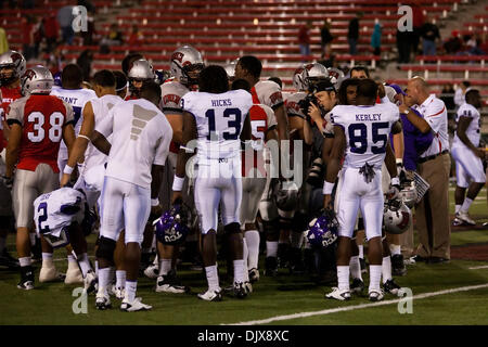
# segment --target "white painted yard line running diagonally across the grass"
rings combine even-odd
[[[458,292],[467,292],[467,291],[474,291],[474,290],[486,288],[486,287],[488,287],[488,283],[479,284],[479,285],[462,286],[459,288],[452,288],[452,290],[446,290],[446,291],[439,291],[439,292],[424,293],[424,294],[414,295],[412,298],[413,299],[424,299],[427,297],[433,297],[433,296],[438,296],[438,295],[446,295],[446,294],[452,294],[452,293],[458,293]],[[324,314],[331,314],[331,313],[336,313],[336,312],[354,311],[354,310],[359,310],[362,308],[391,305],[391,304],[397,304],[400,300],[401,299],[398,298],[398,299],[385,300],[385,301],[373,303],[373,304],[361,304],[361,305],[347,306],[347,307],[341,307],[341,308],[332,308],[332,309],[313,311],[313,312],[300,312],[300,313],[293,313],[293,314],[285,314],[285,316],[275,316],[275,317],[271,317],[268,319],[240,322],[240,323],[234,323],[234,324],[222,324],[222,325],[259,325],[259,324],[267,324],[267,323],[278,322],[278,321],[286,321],[286,320],[297,319],[297,318],[324,316]]]

